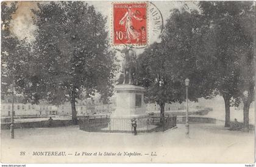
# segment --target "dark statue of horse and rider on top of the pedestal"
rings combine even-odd
[[[124,58],[121,68],[121,74],[118,79],[118,84],[128,83],[128,84],[138,84],[135,83],[135,77],[137,77],[137,62],[136,62],[136,53],[132,48],[124,48],[122,50],[116,49],[121,52],[122,57]]]

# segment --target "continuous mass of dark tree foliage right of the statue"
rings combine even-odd
[[[200,12],[172,10],[161,43],[149,46],[138,59],[139,80],[147,88],[146,97],[160,106],[185,100],[186,78],[192,101],[221,94],[229,126],[230,105],[238,106],[240,99],[251,104],[253,99],[255,6],[220,1],[199,2],[199,7]]]

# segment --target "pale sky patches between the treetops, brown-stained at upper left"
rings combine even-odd
[[[34,16],[32,13],[32,9],[38,10],[37,3],[40,1],[19,1],[18,9],[15,14],[13,14],[13,20],[10,23],[10,29],[12,34],[18,37],[18,39],[23,40],[27,38],[29,41],[35,40],[37,27],[33,24],[32,17]],[[89,5],[94,5],[96,11],[102,13],[102,15],[107,16],[107,25],[106,28],[108,32],[112,31],[112,3],[115,1],[85,1]],[[165,23],[166,19],[170,16],[172,9],[185,9],[190,11],[191,9],[198,9],[197,1],[151,1],[162,13],[163,23]],[[47,3],[47,2],[46,2]],[[149,6],[150,7],[150,6]],[[149,26],[148,26],[148,36],[149,36],[149,44],[154,42],[160,42],[160,38],[158,34],[154,34],[152,32],[152,18],[149,15]],[[111,37],[111,33],[108,33]],[[123,47],[123,46],[122,46]],[[118,48],[121,49],[121,48]],[[143,52],[144,49],[135,49],[137,54]],[[119,59],[121,59],[119,53],[117,53]]]

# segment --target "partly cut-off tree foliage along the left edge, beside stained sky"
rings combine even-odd
[[[10,21],[15,13],[16,2],[1,4],[1,97],[4,98],[10,90],[22,93],[18,82],[23,79],[23,69],[29,58],[30,47],[26,40],[19,41],[10,32]]]

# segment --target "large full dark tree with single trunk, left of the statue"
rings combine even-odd
[[[30,84],[24,80],[29,99],[43,98],[54,104],[71,102],[77,123],[76,99],[113,91],[115,54],[110,50],[106,18],[82,1],[38,3],[33,10],[38,27],[34,42],[34,66]]]

